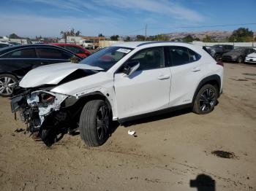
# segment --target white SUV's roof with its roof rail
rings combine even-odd
[[[155,47],[155,46],[184,46],[188,45],[186,42],[166,42],[166,41],[143,41],[143,42],[121,42],[112,44],[113,47]]]

